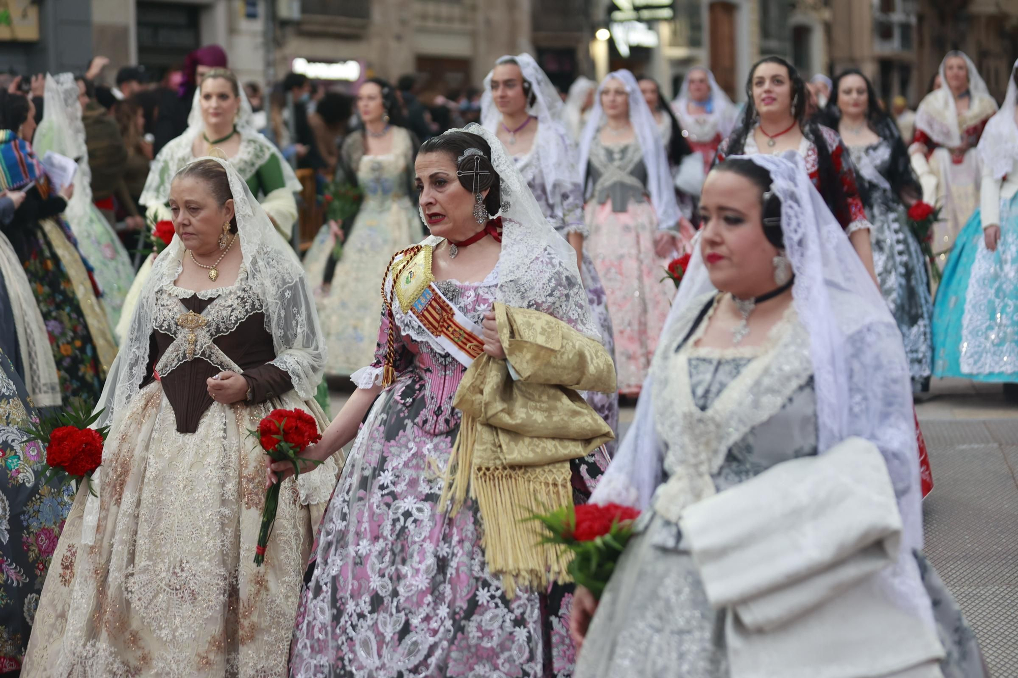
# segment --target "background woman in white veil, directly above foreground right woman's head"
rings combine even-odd
[[[718,155],[718,146],[735,126],[738,117],[735,105],[714,79],[714,73],[703,66],[695,66],[682,80],[672,109],[689,147],[702,157],[703,173],[706,174]]]

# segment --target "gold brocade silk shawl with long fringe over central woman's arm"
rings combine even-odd
[[[506,360],[482,354],[467,369],[453,405],[459,435],[439,505],[453,513],[476,500],[488,568],[508,596],[516,585],[541,590],[565,580],[568,559],[542,544],[535,512],[572,505],[570,459],[613,440],[611,428],[577,391],[611,392],[615,364],[595,339],[538,310],[495,303]]]

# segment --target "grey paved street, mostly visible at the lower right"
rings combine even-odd
[[[333,391],[333,413],[347,393]],[[999,385],[935,380],[916,410],[934,471],[925,552],[994,678],[1018,677],[1018,404]],[[623,409],[623,434],[633,408]]]

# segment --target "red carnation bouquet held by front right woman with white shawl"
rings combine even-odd
[[[563,506],[530,520],[545,525],[549,535],[543,544],[561,544],[572,552],[569,574],[573,581],[601,599],[615,563],[632,535],[639,511],[619,504]]]

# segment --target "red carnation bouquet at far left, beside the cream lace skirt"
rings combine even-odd
[[[54,477],[84,482],[89,492],[92,488],[92,473],[103,463],[103,444],[109,427],[91,428],[99,419],[103,410],[92,413],[92,408],[81,400],[75,400],[70,410],[47,416],[35,426],[24,429],[25,443],[39,441],[46,448],[47,470],[40,478],[45,485]]]

